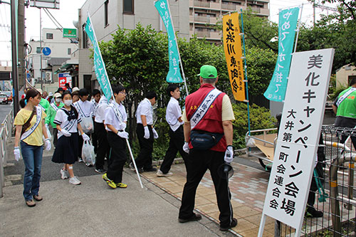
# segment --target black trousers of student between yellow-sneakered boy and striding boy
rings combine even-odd
[[[152,169],[152,152],[153,152],[153,132],[152,132],[152,127],[150,125],[147,125],[148,130],[150,130],[150,138],[145,139],[143,137],[145,135],[145,129],[143,128],[143,125],[140,123],[137,123],[136,127],[136,134],[138,138],[138,142],[140,144],[140,153],[138,154],[138,157],[135,159],[136,166],[138,169],[143,168],[143,169]]]

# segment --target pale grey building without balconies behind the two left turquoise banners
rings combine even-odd
[[[189,40],[189,1],[169,0],[174,30],[177,36]],[[79,88],[93,90],[99,88],[90,58],[90,41],[84,31],[88,13],[92,20],[98,41],[110,41],[111,34],[118,27],[127,30],[134,29],[137,23],[142,26],[152,25],[157,31],[166,32],[164,24],[155,9],[154,1],[147,0],[87,0],[79,9],[77,28],[79,31],[79,61],[78,77],[72,78]]]

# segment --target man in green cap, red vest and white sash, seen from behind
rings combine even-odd
[[[229,96],[215,88],[218,75],[214,66],[201,66],[199,79],[200,88],[187,96],[182,115],[183,149],[189,153],[189,167],[178,220],[184,223],[201,219],[193,212],[194,200],[199,182],[209,169],[220,211],[220,230],[227,231],[237,225],[237,220],[231,207],[229,181],[219,176],[218,169],[234,159],[231,122],[235,119],[234,111]]]

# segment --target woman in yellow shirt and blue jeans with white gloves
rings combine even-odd
[[[21,141],[21,154],[26,167],[23,177],[23,197],[27,206],[36,206],[33,199],[42,200],[42,196],[38,194],[43,153],[42,135],[46,138],[46,150],[51,149],[51,142],[44,124],[46,113],[38,106],[40,101],[41,94],[37,90],[28,90],[26,97],[20,100],[22,109],[14,120],[14,125],[16,125],[14,154],[16,161],[19,161],[19,142]]]

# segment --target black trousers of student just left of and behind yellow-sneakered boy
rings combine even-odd
[[[105,163],[105,156],[109,157],[110,146],[108,143],[108,132],[105,130],[105,125],[100,122],[94,122],[94,132],[98,138],[98,149],[96,152],[96,169],[103,169]],[[93,136],[94,140],[94,136]],[[94,142],[93,142],[94,143]]]

